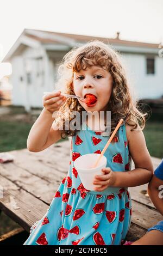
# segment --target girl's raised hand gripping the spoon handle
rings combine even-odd
[[[60,95],[61,92],[52,92],[47,95],[43,95],[42,103],[43,107],[48,113],[53,114],[53,112],[58,111],[62,105],[66,102],[66,97]]]

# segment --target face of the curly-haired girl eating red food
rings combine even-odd
[[[112,92],[112,77],[109,71],[101,66],[91,66],[86,70],[74,72],[73,90],[80,97],[85,97],[86,94],[97,97],[92,105],[79,100],[86,111],[105,111]]]

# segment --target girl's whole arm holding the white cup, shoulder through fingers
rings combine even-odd
[[[110,187],[135,187],[148,183],[153,175],[153,164],[149,155],[145,136],[142,131],[130,131],[131,126],[126,126],[130,155],[135,163],[135,169],[126,172],[113,172],[104,168],[104,175],[95,176],[93,184],[101,185],[96,191],[103,191]]]

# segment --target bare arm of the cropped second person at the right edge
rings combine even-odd
[[[153,175],[148,185],[148,194],[155,208],[163,215],[163,180]]]

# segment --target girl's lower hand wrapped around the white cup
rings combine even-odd
[[[104,175],[96,175],[93,184],[101,185],[101,187],[95,187],[96,191],[103,191],[109,186],[113,186],[116,180],[116,172],[113,172],[109,167],[103,168]]]

